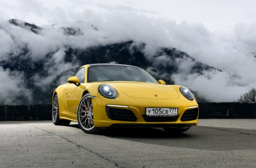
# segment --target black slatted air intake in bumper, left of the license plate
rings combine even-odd
[[[119,108],[111,108],[106,106],[106,115],[110,119],[117,121],[125,121],[125,122],[135,122],[137,121],[137,117],[131,110],[119,109]]]

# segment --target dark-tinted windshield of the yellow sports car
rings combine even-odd
[[[158,83],[145,70],[125,65],[93,65],[88,68],[88,82],[135,81]]]

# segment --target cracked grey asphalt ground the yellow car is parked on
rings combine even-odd
[[[181,135],[152,128],[92,135],[73,122],[0,122],[0,167],[256,167],[255,123],[201,119]]]

